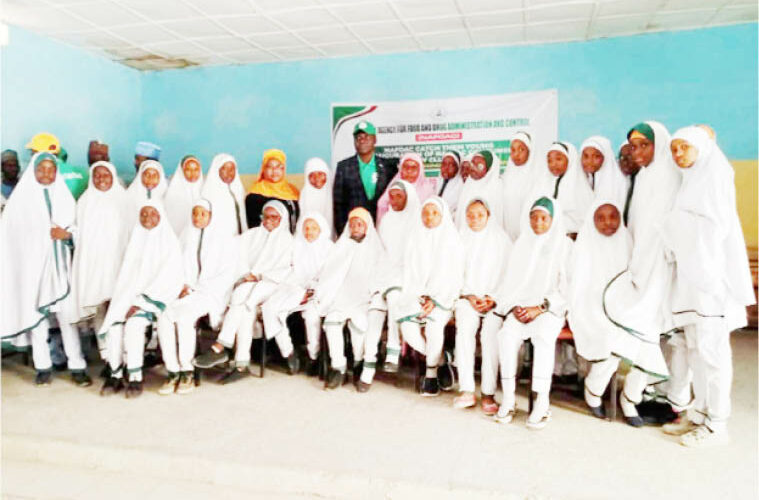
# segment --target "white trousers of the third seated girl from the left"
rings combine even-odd
[[[216,339],[224,347],[235,349],[235,366],[246,367],[250,364],[250,346],[253,344],[253,323],[258,315],[258,306],[266,301],[276,290],[277,285],[268,281],[257,283],[242,304],[229,306],[221,332]],[[237,342],[235,342],[235,340]]]

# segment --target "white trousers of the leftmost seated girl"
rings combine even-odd
[[[142,362],[145,354],[145,329],[150,321],[143,317],[132,316],[125,325],[112,326],[108,330],[108,363],[114,377],[122,376],[124,351],[126,351],[126,369],[129,380],[142,380]]]

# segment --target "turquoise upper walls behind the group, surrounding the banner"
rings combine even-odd
[[[709,123],[732,159],[756,159],[757,24],[547,44],[138,73],[20,29],[3,49],[2,145],[58,134],[77,162],[100,137],[131,172],[136,140],[164,149],[173,171],[188,153],[217,152],[244,173],[263,150],[289,171],[330,157],[332,102],[490,95],[557,88],[560,136],[579,145],[657,119],[674,129]],[[44,60],[50,77],[30,70]],[[43,110],[52,110],[43,117]]]

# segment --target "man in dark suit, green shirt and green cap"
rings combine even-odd
[[[380,158],[374,154],[377,130],[367,121],[353,129],[353,146],[356,154],[337,163],[332,191],[332,209],[335,229],[341,234],[348,222],[348,212],[364,207],[377,218],[377,200],[398,173],[398,160]]]

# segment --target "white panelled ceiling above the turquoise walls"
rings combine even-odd
[[[757,20],[757,0],[0,1],[5,23],[139,69],[588,40]]]

